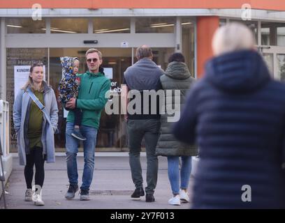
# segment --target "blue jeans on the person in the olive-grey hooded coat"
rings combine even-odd
[[[187,189],[189,186],[190,174],[191,174],[191,156],[181,156],[182,166],[179,170],[179,156],[168,156],[168,178],[171,185],[171,190],[174,195],[179,194],[179,190]],[[181,178],[181,181],[180,181]],[[181,182],[181,184],[180,184]]]

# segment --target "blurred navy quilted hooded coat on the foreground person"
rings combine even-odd
[[[258,52],[209,61],[174,133],[199,146],[193,208],[285,207],[285,86]]]

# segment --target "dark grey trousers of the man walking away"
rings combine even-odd
[[[154,194],[157,182],[159,162],[155,155],[156,144],[161,128],[160,119],[128,120],[128,146],[131,177],[136,188],[142,187],[142,167],[140,151],[142,138],[145,137],[145,151],[147,153],[147,194]]]

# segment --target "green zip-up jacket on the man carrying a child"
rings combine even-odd
[[[80,77],[80,90],[76,107],[83,112],[81,125],[98,129],[101,111],[108,101],[105,93],[110,90],[110,79],[101,72],[94,74],[89,71],[78,77]],[[67,121],[74,122],[74,112],[68,112]]]

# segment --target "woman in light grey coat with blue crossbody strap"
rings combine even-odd
[[[50,120],[31,99],[30,89],[45,106]],[[25,201],[34,201],[36,206],[43,206],[41,188],[45,177],[44,162],[54,162],[54,132],[58,121],[57,100],[54,91],[43,81],[43,63],[35,63],[30,68],[29,79],[17,94],[13,108],[13,121],[17,133],[17,149],[20,164],[24,165],[24,178],[27,184]],[[35,187],[32,192],[32,180],[36,166]]]

